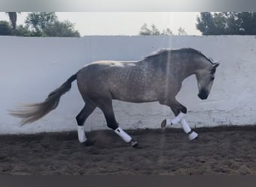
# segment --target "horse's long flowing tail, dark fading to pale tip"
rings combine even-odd
[[[41,117],[45,116],[58,106],[61,96],[67,91],[70,91],[71,83],[74,80],[76,80],[76,74],[70,76],[70,78],[67,79],[67,81],[64,82],[59,88],[49,93],[48,97],[43,102],[23,104],[20,108],[11,110],[10,114],[15,117],[22,118],[22,125],[39,120]]]

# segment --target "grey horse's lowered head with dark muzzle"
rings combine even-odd
[[[205,66],[204,69],[198,70],[197,73],[195,73],[195,76],[198,79],[198,97],[200,99],[207,99],[209,96],[213,86],[216,68],[218,66],[219,63],[217,62],[211,63],[210,65]]]

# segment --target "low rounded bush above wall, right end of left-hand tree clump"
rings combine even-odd
[[[43,33],[47,37],[80,37],[79,31],[75,31],[74,24],[69,21],[56,21],[46,27]]]

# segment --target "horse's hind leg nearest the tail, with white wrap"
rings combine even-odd
[[[76,116],[79,142],[85,144],[85,146],[93,145],[93,142],[89,141],[88,138],[86,138],[84,124],[85,120],[89,117],[89,115],[94,111],[95,108],[96,105],[94,105],[92,102],[86,102],[84,108],[82,108],[82,111],[80,111],[79,114]]]

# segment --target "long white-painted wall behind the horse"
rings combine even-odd
[[[84,103],[76,82],[61,97],[55,111],[36,123],[19,126],[7,114],[23,102],[41,102],[48,93],[79,68],[97,60],[139,60],[159,48],[193,47],[220,61],[210,97],[197,97],[195,77],[183,82],[178,100],[186,105],[192,127],[252,125],[256,123],[255,36],[161,36],[161,37],[0,37],[0,134],[59,132],[76,129],[76,114]],[[115,114],[124,129],[159,128],[168,107],[157,102],[114,102]],[[107,129],[100,110],[88,118],[87,130]],[[179,127],[179,126],[176,126]]]

